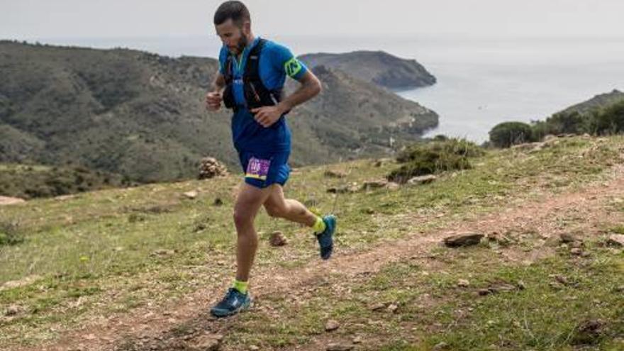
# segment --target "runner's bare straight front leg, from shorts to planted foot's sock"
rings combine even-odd
[[[247,282],[258,247],[254,219],[260,206],[272,193],[271,187],[258,189],[244,183],[234,205],[234,224],[238,241],[236,245],[236,280]]]

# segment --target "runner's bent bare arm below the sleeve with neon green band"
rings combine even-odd
[[[264,127],[272,126],[286,111],[303,104],[321,92],[321,82],[310,70],[306,69],[306,72],[296,79],[301,84],[299,88],[294,93],[286,96],[279,104],[253,108],[251,110],[258,123]]]

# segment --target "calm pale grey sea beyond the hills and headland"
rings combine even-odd
[[[543,119],[596,94],[624,90],[624,38],[272,37],[296,55],[384,50],[418,60],[433,87],[400,91],[440,115],[446,134],[481,143],[503,121]],[[161,55],[216,57],[214,35],[196,38],[55,39],[43,43],[136,48]],[[340,118],[340,116],[336,116]]]

